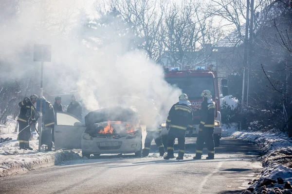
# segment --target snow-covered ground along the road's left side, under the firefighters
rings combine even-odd
[[[16,122],[12,120],[7,126],[0,126],[0,137],[12,138],[11,141],[0,143],[0,178],[53,166],[65,160],[82,159],[77,153],[78,150],[45,152],[42,147],[41,152],[38,152],[37,139],[30,141],[33,150],[19,150],[18,133],[14,133],[15,125]]]

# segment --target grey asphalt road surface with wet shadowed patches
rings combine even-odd
[[[183,161],[131,155],[68,161],[2,178],[0,194],[233,194],[261,171],[252,144],[223,138],[215,160],[192,160],[194,141],[186,141]]]

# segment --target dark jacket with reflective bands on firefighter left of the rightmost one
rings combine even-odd
[[[179,104],[179,102],[174,104],[168,113],[166,124],[176,129],[193,128],[192,108],[186,104]]]

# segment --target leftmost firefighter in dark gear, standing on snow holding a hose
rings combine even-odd
[[[31,127],[36,125],[38,114],[36,113],[34,104],[37,102],[37,95],[32,95],[30,98],[26,97],[23,101],[19,102],[20,113],[18,116],[18,141],[20,149],[33,150],[29,146],[31,138]]]

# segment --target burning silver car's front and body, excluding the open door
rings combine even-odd
[[[82,156],[135,153],[142,156],[146,128],[139,124],[136,112],[129,108],[106,108],[85,116],[82,134]]]

